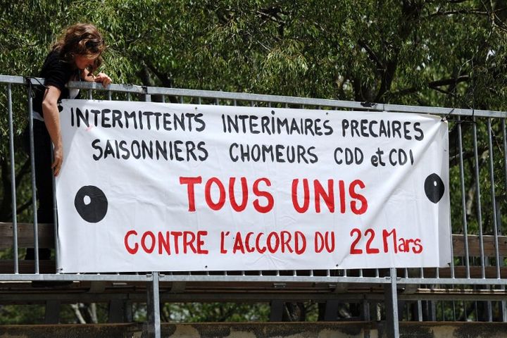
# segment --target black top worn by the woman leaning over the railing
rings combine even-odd
[[[44,85],[54,86],[60,89],[61,94],[58,101],[61,99],[68,99],[69,90],[65,87],[65,84],[75,75],[75,78],[79,78],[79,70],[75,68],[71,63],[65,62],[60,58],[58,51],[51,51],[46,56],[46,61],[42,65],[42,70],[39,73],[40,77],[44,77]],[[37,111],[42,116],[42,99],[44,98],[44,87],[36,87],[35,97],[33,99],[33,110]]]

